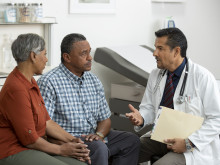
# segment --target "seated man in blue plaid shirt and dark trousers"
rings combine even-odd
[[[111,129],[111,112],[99,79],[91,72],[90,45],[81,34],[61,43],[61,64],[38,80],[50,117],[67,132],[81,137],[94,165],[136,165],[139,138]],[[61,142],[62,143],[62,142]]]

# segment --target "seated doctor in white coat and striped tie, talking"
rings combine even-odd
[[[154,123],[158,107],[167,106],[204,118],[202,127],[187,139],[164,139],[166,145],[141,137],[139,162],[150,160],[153,155],[162,157],[154,165],[219,165],[220,164],[220,95],[214,76],[202,66],[186,58],[187,40],[178,28],[167,28],[155,32],[157,68],[148,80],[147,88],[138,111],[129,105],[127,113],[138,131],[144,125]],[[174,91],[166,95],[166,84],[170,82]],[[171,90],[170,90],[171,91]],[[171,92],[172,93],[172,92]]]

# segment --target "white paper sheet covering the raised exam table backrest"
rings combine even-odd
[[[119,54],[121,57],[139,67],[140,69],[150,73],[157,67],[153,53],[138,45],[109,47],[111,50]]]

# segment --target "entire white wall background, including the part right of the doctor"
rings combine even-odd
[[[19,0],[16,0],[19,1]],[[31,1],[31,0],[30,0]],[[36,1],[35,1],[36,2]],[[96,47],[140,45],[153,47],[154,32],[173,16],[188,38],[188,56],[220,79],[220,0],[186,0],[185,3],[151,3],[151,0],[117,0],[115,14],[69,14],[69,0],[42,0],[44,16],[57,18],[53,25],[52,64],[60,63],[60,42],[68,33],[82,33]],[[93,63],[109,97],[111,82],[126,78]]]

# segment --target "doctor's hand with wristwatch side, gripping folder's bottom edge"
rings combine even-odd
[[[174,138],[174,139],[166,139],[164,140],[167,144],[167,148],[172,150],[173,152],[182,154],[186,151],[186,144],[184,139]]]

